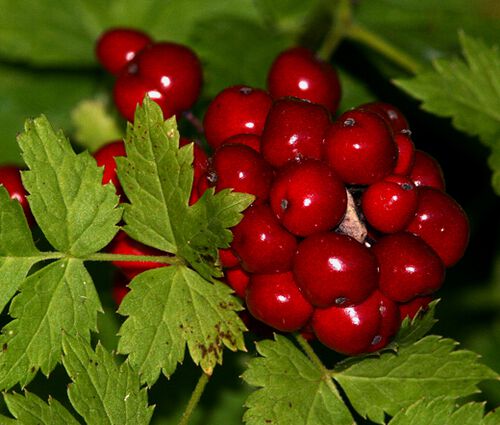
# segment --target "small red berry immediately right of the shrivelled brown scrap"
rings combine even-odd
[[[376,230],[395,233],[404,230],[417,210],[417,190],[403,176],[390,175],[369,186],[361,197],[366,220]]]

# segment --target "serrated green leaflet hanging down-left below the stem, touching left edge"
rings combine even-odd
[[[0,337],[0,388],[27,385],[61,360],[62,332],[87,340],[102,311],[92,278],[78,259],[55,261],[30,275],[9,309]]]

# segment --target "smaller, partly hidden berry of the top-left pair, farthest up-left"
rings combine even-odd
[[[117,75],[146,46],[149,36],[132,28],[111,28],[96,43],[96,56],[103,68]]]

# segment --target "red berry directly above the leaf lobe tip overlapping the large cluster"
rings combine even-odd
[[[212,158],[209,179],[215,182],[216,191],[232,188],[254,195],[255,202],[263,202],[269,197],[273,170],[252,148],[223,145]]]

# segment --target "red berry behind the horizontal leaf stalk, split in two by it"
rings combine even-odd
[[[118,234],[115,236],[108,247],[108,251],[112,254],[138,256],[137,261],[112,262],[128,279],[133,279],[139,273],[142,273],[146,270],[167,266],[167,264],[165,263],[159,263],[155,261],[141,261],[140,256],[166,255],[166,253],[150,246],[144,245],[132,239],[122,231],[118,232]]]

